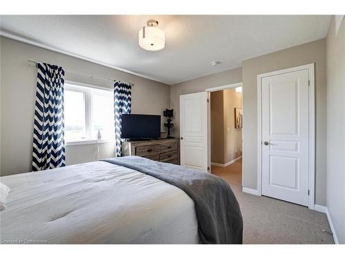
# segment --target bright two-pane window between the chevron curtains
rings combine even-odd
[[[112,90],[65,85],[66,142],[115,141]]]

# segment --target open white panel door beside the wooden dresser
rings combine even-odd
[[[181,165],[208,171],[207,93],[180,95]]]

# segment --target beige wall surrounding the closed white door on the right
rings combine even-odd
[[[315,202],[326,205],[326,39],[243,61],[243,183],[257,189],[257,75],[311,63],[315,63]]]

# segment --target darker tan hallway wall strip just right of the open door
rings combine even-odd
[[[224,164],[224,93],[210,93],[211,162]]]

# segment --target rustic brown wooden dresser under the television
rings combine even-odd
[[[138,155],[150,160],[179,164],[179,140],[143,140],[122,142],[122,155]]]

